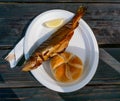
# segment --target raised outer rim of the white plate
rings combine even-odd
[[[29,31],[29,29],[32,27],[32,24],[34,24],[40,17],[44,16],[44,14],[47,14],[47,13],[50,13],[50,12],[58,12],[58,11],[60,11],[60,12],[61,12],[61,11],[62,11],[62,12],[68,12],[68,13],[71,13],[71,14],[74,15],[74,13],[72,13],[72,12],[70,12],[70,11],[67,11],[67,10],[63,10],[63,9],[52,9],[52,10],[45,11],[45,12],[39,14],[38,16],[36,16],[36,17],[32,20],[32,22],[30,23],[30,25],[29,25],[28,28],[27,28],[26,33],[29,33],[28,31]],[[95,58],[95,61],[93,62],[94,68],[91,68],[92,70],[90,70],[90,71],[94,71],[94,73],[89,72],[89,76],[87,76],[87,79],[86,79],[86,80],[83,80],[83,81],[84,81],[84,82],[83,82],[84,85],[82,85],[81,87],[79,87],[79,89],[82,88],[83,86],[85,86],[86,84],[88,84],[88,82],[90,82],[90,80],[93,78],[93,76],[94,76],[94,74],[95,74],[95,72],[96,72],[96,70],[97,70],[98,61],[99,61],[99,49],[98,49],[98,44],[97,44],[97,40],[96,40],[96,38],[95,38],[95,36],[94,36],[94,33],[93,33],[93,31],[91,30],[91,28],[89,27],[89,25],[88,25],[83,19],[81,19],[81,21],[87,26],[87,29],[88,29],[89,32],[91,33],[90,35],[92,35],[92,36],[91,36],[92,39],[94,39],[94,46],[96,47],[97,55],[94,56],[94,58]],[[26,54],[25,54],[25,46],[26,46],[26,44],[27,44],[27,43],[26,43],[26,40],[27,40],[27,34],[26,34],[26,33],[25,33],[25,39],[24,39],[24,55],[25,55],[25,59],[28,58],[28,57],[26,56]],[[93,70],[93,69],[94,69],[94,70]],[[73,92],[73,91],[78,90],[78,88],[72,89],[72,90],[62,90],[62,89],[56,89],[56,88],[53,88],[53,87],[52,87],[52,88],[51,88],[51,87],[48,87],[48,86],[47,86],[48,84],[42,83],[42,82],[39,81],[38,78],[36,78],[36,76],[35,76],[35,74],[34,74],[34,70],[32,70],[31,73],[32,73],[33,77],[34,77],[36,80],[38,80],[39,83],[41,83],[42,85],[46,86],[47,88],[49,88],[49,89],[51,89],[51,90],[54,90],[54,91],[57,91],[57,92],[64,92],[64,93],[65,93],[65,92]],[[66,88],[68,89],[69,86],[66,87]]]

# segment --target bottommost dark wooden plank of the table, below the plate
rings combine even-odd
[[[57,93],[45,87],[0,89],[2,101],[119,101],[120,86],[86,86],[73,93]]]

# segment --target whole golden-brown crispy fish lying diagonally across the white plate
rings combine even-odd
[[[80,7],[75,16],[68,23],[53,33],[32,53],[30,58],[23,65],[22,71],[35,69],[40,66],[43,61],[64,52],[74,34],[74,30],[78,26],[78,21],[85,12],[86,7]]]

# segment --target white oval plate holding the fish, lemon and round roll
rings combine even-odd
[[[49,10],[38,15],[27,29],[24,41],[24,55],[28,59],[32,51],[46,40],[56,29],[46,28],[44,22],[64,18],[65,22],[74,16],[65,10]],[[87,23],[81,19],[79,26],[69,43],[67,51],[79,56],[84,64],[82,77],[75,83],[62,84],[54,80],[49,66],[49,61],[44,62],[37,69],[32,70],[33,76],[44,86],[58,92],[72,92],[84,87],[93,77],[98,65],[99,51],[96,39]]]

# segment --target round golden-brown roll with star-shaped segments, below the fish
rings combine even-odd
[[[81,59],[70,52],[63,52],[51,58],[50,66],[54,78],[63,83],[76,81],[83,72]]]

